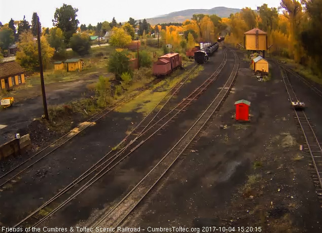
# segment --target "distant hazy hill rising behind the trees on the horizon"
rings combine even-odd
[[[158,23],[182,23],[186,19],[191,19],[193,14],[206,14],[213,15],[216,14],[219,17],[229,17],[230,14],[235,14],[240,12],[240,9],[233,9],[227,7],[214,7],[212,9],[190,9],[184,11],[171,12],[167,15],[160,15],[154,18],[147,19],[147,21],[152,24]]]

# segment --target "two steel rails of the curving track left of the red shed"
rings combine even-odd
[[[183,141],[183,139],[185,139],[185,137],[187,136],[188,133],[190,133],[190,131],[193,130],[193,128],[197,125],[197,123],[199,123],[199,121],[204,117],[204,115],[207,113],[207,110],[213,105],[213,103],[218,99],[218,97],[221,95],[221,94],[224,94],[222,96],[222,98],[220,99],[219,103],[217,104],[216,107],[214,107],[214,109],[212,110],[212,112],[210,113],[210,115],[207,117],[207,119],[203,122],[202,126],[197,130],[197,132],[193,135],[192,138],[189,138],[189,142],[186,143],[186,145],[184,146],[184,148],[178,153],[178,155],[174,158],[174,160],[172,161],[172,163],[170,163],[170,165],[162,172],[162,174],[157,178],[157,180],[148,188],[148,190],[143,194],[141,195],[141,197],[139,198],[139,200],[137,202],[134,203],[134,205],[128,209],[128,207],[124,208],[125,211],[127,211],[127,213],[125,214],[125,216],[123,217],[119,217],[117,216],[117,223],[112,223],[112,224],[115,224],[115,226],[118,226],[131,212],[132,210],[137,206],[137,204],[144,198],[146,197],[146,195],[148,194],[148,192],[157,184],[157,182],[163,177],[163,175],[170,169],[170,167],[174,164],[174,162],[181,156],[181,154],[186,150],[186,148],[189,146],[189,144],[194,140],[194,138],[200,133],[200,131],[203,129],[203,127],[206,125],[206,123],[209,121],[209,119],[211,119],[212,115],[214,114],[214,112],[218,112],[219,109],[221,106],[222,106],[222,101],[227,97],[227,94],[229,94],[229,92],[231,91],[231,88],[232,88],[232,85],[235,81],[235,78],[236,78],[236,74],[237,74],[237,71],[238,71],[238,65],[239,65],[239,60],[238,60],[238,56],[236,55],[236,53],[234,51],[232,51],[234,56],[235,56],[235,64],[234,64],[234,68],[227,80],[227,82],[225,83],[224,87],[221,89],[220,93],[213,99],[213,101],[210,103],[210,105],[203,111],[203,113],[201,114],[201,116],[198,118],[198,120],[193,124],[193,126],[185,133],[185,135],[180,139],[178,140],[178,142],[170,149],[170,151],[152,168],[152,170],[150,170],[150,172],[144,177],[142,178],[128,193],[127,195],[116,205],[114,206],[107,214],[105,214],[97,223],[95,223],[94,226],[92,227],[96,227],[98,226],[102,221],[104,221],[107,217],[109,217],[110,215],[112,215],[112,217],[116,216],[116,215],[113,215],[113,211],[115,211],[135,190],[143,190],[144,187],[146,187],[147,185],[142,185],[144,187],[141,187],[138,188],[138,186],[144,182],[147,177],[153,172],[155,171],[155,169],[168,157],[168,155],[170,154],[170,152],[172,152],[176,147],[177,145]],[[224,93],[224,90],[226,88],[226,85],[228,83],[228,81],[231,79],[233,73],[234,73],[234,70],[235,70],[235,66],[236,66],[236,63],[237,63],[237,69],[236,69],[236,72],[233,76],[233,79],[231,80],[231,83],[229,85],[229,87],[227,88],[227,91]],[[223,93],[222,93],[223,92]],[[175,152],[174,152],[175,153]],[[162,167],[162,166],[161,166]],[[129,202],[130,204],[132,203],[133,204],[133,198],[129,198],[131,199]],[[120,207],[121,208],[121,207]],[[128,211],[129,210],[129,211]],[[117,212],[117,211],[116,211]],[[118,212],[119,213],[119,212]],[[112,224],[109,223],[111,226]]]

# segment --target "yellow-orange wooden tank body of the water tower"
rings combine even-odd
[[[244,33],[244,45],[246,50],[267,50],[267,33],[258,28]]]

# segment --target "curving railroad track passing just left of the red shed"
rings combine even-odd
[[[170,169],[181,154],[187,153],[186,149],[194,141],[196,136],[207,128],[208,121],[212,121],[216,117],[224,101],[229,95],[234,85],[238,71],[238,56],[235,56],[234,68],[221,89],[219,94],[213,99],[211,104],[203,111],[201,116],[193,124],[193,126],[178,140],[178,142],[167,152],[167,154],[150,170],[150,172],[142,178],[128,193],[122,198],[108,213],[103,213],[89,227],[111,226],[117,227],[132,212],[132,210],[144,199],[149,191],[158,183],[164,174]]]

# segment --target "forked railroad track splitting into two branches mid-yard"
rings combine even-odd
[[[142,120],[135,129],[132,130],[132,132],[126,136],[116,147],[121,147],[126,142],[129,142],[128,144],[124,145],[123,148],[120,150],[111,150],[108,152],[102,159],[100,159],[96,164],[94,164],[90,169],[88,169],[86,172],[84,172],[80,177],[78,177],[76,180],[68,184],[64,189],[62,189],[60,192],[58,192],[53,198],[51,198],[49,201],[44,203],[41,207],[39,207],[37,210],[33,211],[31,214],[29,214],[27,217],[22,219],[19,223],[17,223],[14,227],[19,226],[37,226],[44,222],[48,217],[52,216],[54,213],[56,213],[58,210],[63,208],[67,203],[69,203],[71,200],[73,200],[75,197],[77,197],[80,193],[82,193],[86,188],[91,186],[94,182],[96,182],[98,179],[100,179],[103,175],[108,173],[111,169],[113,169],[116,165],[118,165],[120,162],[122,162],[126,157],[129,156],[135,149],[137,149],[140,145],[142,145],[145,141],[149,140],[153,135],[155,135],[160,129],[162,129],[166,124],[168,124],[170,121],[172,121],[176,115],[191,104],[192,101],[194,101],[196,98],[200,96],[201,93],[204,92],[204,90],[209,86],[210,83],[212,83],[214,80],[217,79],[217,76],[222,70],[222,68],[225,66],[227,61],[227,53],[226,50],[224,51],[224,60],[219,66],[219,68],[202,84],[197,88],[193,93],[191,93],[189,96],[189,101],[187,101],[188,97],[184,100],[182,100],[180,103],[177,104],[176,107],[174,107],[170,112],[175,112],[175,114],[172,114],[171,117],[169,117],[169,113],[167,113],[164,117],[161,118],[161,120],[156,120],[156,117],[161,112],[161,110],[164,108],[164,106],[168,103],[168,101],[171,99],[171,97],[176,94],[178,89],[182,87],[182,85],[189,79],[189,75],[187,77],[184,77],[180,82],[178,82],[177,85],[175,85],[167,94],[166,96],[155,106],[153,110],[147,115],[147,117]],[[194,71],[191,71],[190,74],[194,73]],[[211,82],[210,82],[211,80]],[[199,94],[196,93],[197,90],[199,90]],[[185,105],[183,106],[183,102],[185,102]],[[158,110],[159,109],[159,110]],[[179,110],[178,110],[179,109]],[[164,120],[166,119],[166,120]],[[160,122],[165,121],[165,123],[160,126]],[[154,123],[155,122],[155,123]],[[154,123],[152,125],[152,123]],[[148,126],[152,125],[149,129]],[[151,135],[146,135],[148,131],[152,131],[151,129],[154,129],[153,133]],[[138,139],[142,136],[146,136],[144,140],[137,143]],[[127,152],[127,153],[126,153]],[[114,153],[114,154],[113,154]],[[125,156],[121,157],[122,154],[125,154]],[[111,156],[112,154],[112,156]],[[110,156],[108,158],[108,156]],[[121,157],[121,158],[120,158]],[[106,170],[107,169],[107,170]],[[94,174],[95,173],[95,174]],[[81,183],[82,182],[82,183]],[[81,187],[80,187],[81,186]],[[76,190],[74,190],[74,189]],[[73,192],[73,194],[69,195],[68,193]],[[66,197],[67,196],[67,197]],[[58,204],[57,204],[58,203]],[[41,216],[40,212],[44,208],[52,209],[52,211],[44,216]]]

